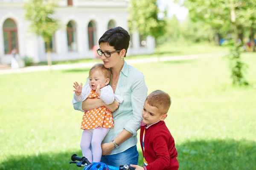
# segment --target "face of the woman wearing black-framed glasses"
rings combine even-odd
[[[99,49],[102,52],[112,52],[116,51],[116,49],[113,46],[109,46],[108,42],[101,42],[99,45]],[[119,50],[119,49],[118,49]],[[116,65],[122,64],[121,57],[125,56],[125,49],[122,49],[122,51],[111,53],[111,57],[105,57],[104,54],[102,54],[101,59],[104,63],[105,68],[112,68]]]

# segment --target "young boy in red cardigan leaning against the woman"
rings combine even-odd
[[[163,91],[153,91],[145,100],[140,128],[140,145],[144,167],[132,165],[135,170],[177,170],[177,150],[174,139],[163,121],[171,99]]]

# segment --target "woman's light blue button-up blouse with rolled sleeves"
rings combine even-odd
[[[124,101],[119,105],[119,108],[112,113],[114,127],[109,130],[102,143],[111,142],[123,129],[133,135],[120,144],[119,149],[112,150],[110,155],[121,153],[137,144],[137,130],[140,129],[142,110],[147,93],[148,88],[145,85],[143,73],[124,62],[115,91],[115,94],[122,96]],[[82,102],[77,102],[74,104],[74,109],[83,111],[81,106]]]

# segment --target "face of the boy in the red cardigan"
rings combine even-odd
[[[158,121],[163,121],[167,117],[167,114],[161,114],[157,107],[148,105],[145,101],[142,111],[143,122],[147,125],[151,125]]]

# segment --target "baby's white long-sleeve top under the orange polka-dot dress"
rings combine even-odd
[[[76,96],[76,93],[74,92],[74,97],[72,100],[72,104],[77,102],[82,102],[89,96],[91,91],[90,85],[84,85],[82,88],[82,92],[79,96]],[[106,105],[110,105],[113,103],[114,99],[116,99],[117,102],[122,103],[123,98],[120,95],[114,94],[113,88],[110,85],[107,85],[100,89],[101,94],[99,96],[100,99],[102,99],[103,102],[106,103]]]

